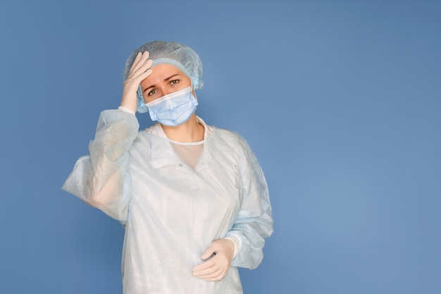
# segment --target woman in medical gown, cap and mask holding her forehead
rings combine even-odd
[[[144,44],[124,78],[63,190],[125,226],[124,293],[242,293],[237,267],[256,268],[273,231],[256,157],[196,116],[202,65],[190,47]],[[139,131],[136,111],[157,122]]]

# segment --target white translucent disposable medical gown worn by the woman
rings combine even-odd
[[[124,293],[242,293],[237,267],[263,258],[273,219],[261,167],[240,135],[197,119],[204,140],[182,143],[159,123],[139,131],[133,114],[103,111],[90,154],[63,185],[125,226]],[[228,274],[192,276],[210,243],[230,235],[240,248]]]

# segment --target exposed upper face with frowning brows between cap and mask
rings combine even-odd
[[[149,103],[192,85],[192,81],[176,66],[159,64],[151,68],[152,73],[141,82],[144,102]]]

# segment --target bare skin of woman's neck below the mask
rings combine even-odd
[[[168,139],[173,141],[188,143],[204,140],[204,126],[197,122],[196,112],[182,125],[169,127],[161,124],[161,127]]]

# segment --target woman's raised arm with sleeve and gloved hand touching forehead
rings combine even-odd
[[[131,193],[128,174],[128,151],[138,132],[135,116],[139,82],[151,74],[149,52],[138,54],[127,80],[118,110],[103,111],[97,133],[89,144],[90,154],[78,159],[68,176],[63,190],[125,221]]]

